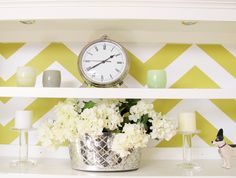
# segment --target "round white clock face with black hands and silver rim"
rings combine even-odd
[[[100,41],[86,47],[80,57],[83,77],[95,85],[109,85],[121,80],[127,72],[127,57],[122,47],[111,41]]]

